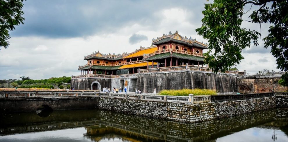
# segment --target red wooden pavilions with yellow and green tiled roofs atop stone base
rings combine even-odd
[[[79,66],[82,74],[133,74],[140,69],[160,68],[204,64],[203,50],[207,49],[207,44],[198,42],[191,37],[182,37],[176,31],[169,32],[162,37],[152,40],[152,45],[148,48],[140,47],[134,52],[123,54],[101,54],[93,52],[85,56],[87,64]],[[83,73],[82,73],[83,71]]]

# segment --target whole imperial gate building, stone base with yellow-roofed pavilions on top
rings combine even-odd
[[[127,88],[144,93],[163,89],[207,88],[219,93],[238,92],[237,76],[245,72],[227,70],[213,73],[205,65],[203,50],[207,44],[175,33],[163,34],[152,40],[148,48],[131,53],[101,54],[99,51],[84,59],[79,76],[72,76],[71,87],[76,90]]]

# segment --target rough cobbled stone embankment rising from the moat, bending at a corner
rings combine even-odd
[[[199,105],[100,98],[98,108],[180,122],[200,122],[275,108],[275,98]]]

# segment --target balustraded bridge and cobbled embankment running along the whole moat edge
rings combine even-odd
[[[17,94],[19,94],[18,97]],[[40,94],[50,94],[50,96],[42,97]],[[70,94],[70,96],[67,97],[64,94]],[[90,97],[84,94],[90,94]],[[125,114],[190,123],[231,117],[270,108],[288,107],[288,93],[278,92],[179,97],[64,91],[0,92],[0,96],[0,112],[35,111],[41,105],[48,105],[53,110],[99,108]]]

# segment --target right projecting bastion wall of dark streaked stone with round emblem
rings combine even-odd
[[[237,76],[198,71],[178,71],[139,74],[137,89],[152,93],[164,89],[206,88],[217,92],[238,92]]]

